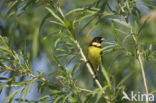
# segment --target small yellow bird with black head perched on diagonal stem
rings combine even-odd
[[[101,58],[101,43],[104,41],[103,37],[94,37],[88,46],[88,61],[91,64],[95,73],[95,78],[98,79],[99,67],[102,61]]]

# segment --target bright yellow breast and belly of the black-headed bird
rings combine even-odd
[[[93,44],[95,45],[95,44]],[[96,45],[101,46],[101,44]],[[92,66],[97,68],[101,64],[101,48],[95,47],[95,46],[89,46],[88,48],[88,60],[91,62]]]

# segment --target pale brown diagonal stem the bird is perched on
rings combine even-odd
[[[92,78],[95,79],[96,85],[97,85],[99,88],[102,89],[102,86],[101,86],[100,82],[98,81],[98,79],[95,78],[95,74],[94,74],[94,72],[93,72],[93,70],[92,70],[90,64],[87,62],[87,59],[86,59],[86,57],[85,57],[85,55],[84,55],[84,53],[83,53],[83,51],[82,51],[82,49],[81,49],[81,47],[80,47],[80,44],[79,44],[76,40],[74,41],[74,43],[76,44],[77,48],[79,49],[80,55],[82,56],[84,62],[86,63],[86,66],[87,66],[88,71],[90,72]]]

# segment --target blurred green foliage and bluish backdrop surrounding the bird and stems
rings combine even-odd
[[[53,13],[46,7],[53,10]],[[54,14],[65,23],[64,27],[58,23]],[[133,27],[137,37],[148,89],[152,92],[156,89],[155,0],[1,0],[0,35],[3,40],[5,38],[8,50],[17,53],[15,57],[19,59],[17,65],[17,60],[12,54],[0,49],[1,69],[6,66],[21,69],[20,64],[24,68],[27,64],[30,73],[37,77],[44,77],[49,84],[40,80],[35,80],[32,84],[28,82],[29,86],[27,82],[17,84],[33,78],[22,76],[20,72],[1,70],[0,102],[4,102],[6,97],[13,94],[15,90],[27,86],[28,91],[24,92],[25,102],[44,100],[45,103],[53,103],[58,99],[56,103],[63,103],[64,98],[70,95],[70,98],[66,97],[69,100],[64,100],[65,103],[74,103],[74,101],[75,103],[85,101],[103,103],[105,100],[100,99],[102,96],[98,94],[97,87],[93,86],[92,77],[81,60],[79,50],[71,40],[74,38],[80,43],[87,57],[89,42],[96,36],[105,38],[102,43],[102,66],[107,71],[111,83],[111,88],[105,90],[106,96],[111,98],[110,101],[129,103],[126,100],[121,101],[122,91],[128,94],[130,91],[145,93],[136,47],[130,29],[124,25],[126,22]],[[0,41],[1,47],[4,44],[3,40]],[[71,77],[66,76],[70,73],[62,70],[62,67],[71,72]],[[10,83],[7,82],[9,78],[13,77],[15,85],[7,85]],[[100,83],[103,87],[108,85],[102,73]],[[79,93],[74,84],[94,92],[81,93],[80,91]],[[53,86],[58,88],[53,89]],[[18,98],[24,97],[22,93],[18,92],[15,97],[10,96],[14,98],[10,101],[19,102]],[[49,95],[51,93],[53,95]],[[45,95],[49,97],[41,99]]]

